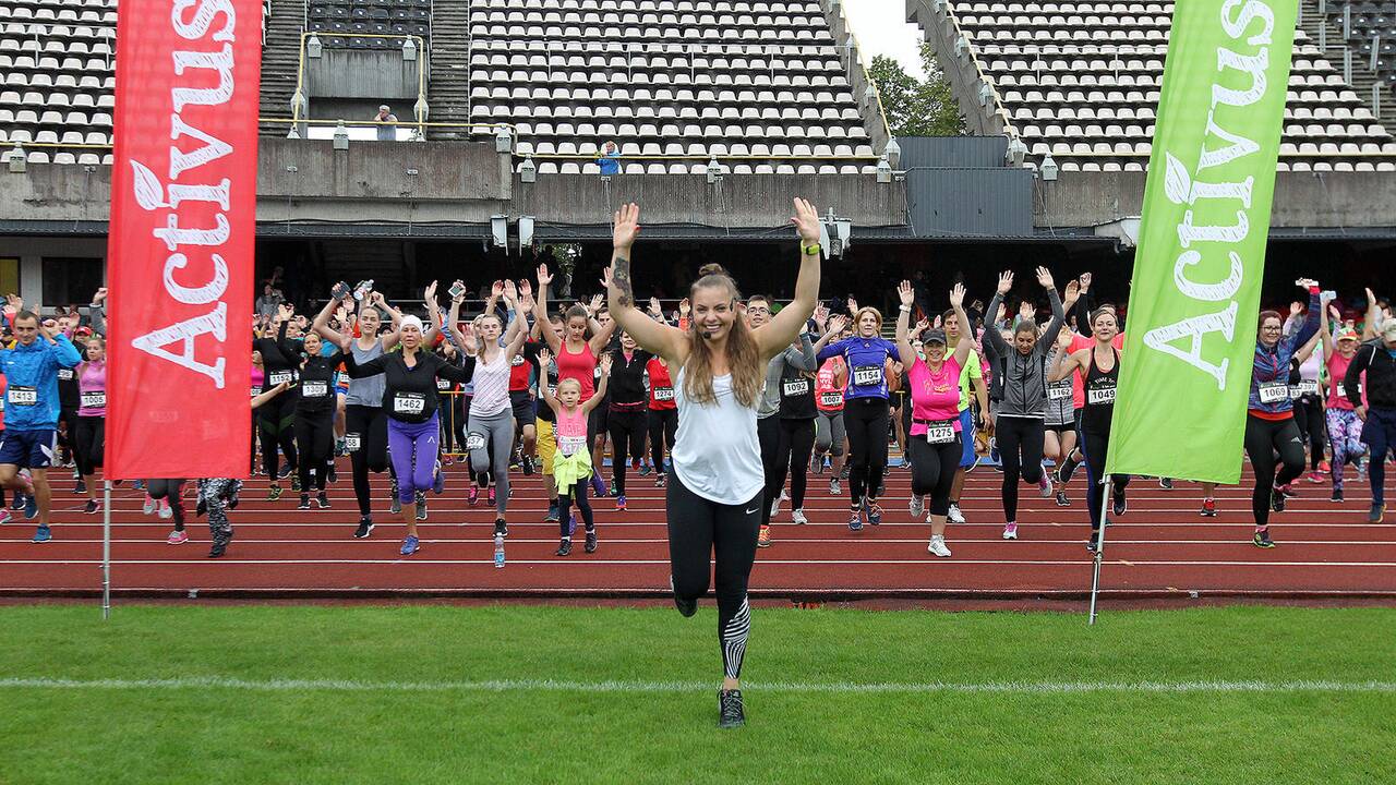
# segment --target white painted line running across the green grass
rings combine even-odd
[[[832,694],[1087,694],[1087,693],[1396,693],[1396,682],[747,682],[765,693]],[[334,691],[334,693],[705,693],[708,682],[563,682],[554,679],[498,679],[480,682],[356,682],[339,679],[232,679],[183,676],[176,679],[0,679],[0,689],[21,690],[193,690]]]

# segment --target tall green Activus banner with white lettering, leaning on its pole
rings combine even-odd
[[[1177,0],[1107,472],[1235,483],[1294,0]]]

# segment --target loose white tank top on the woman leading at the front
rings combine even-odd
[[[732,394],[732,374],[715,376],[711,404],[684,395],[684,370],[674,383],[678,433],[674,437],[674,474],[684,487],[718,504],[761,504],[765,486],[761,443],[757,440],[757,406],[743,406]],[[761,398],[757,397],[755,404]]]

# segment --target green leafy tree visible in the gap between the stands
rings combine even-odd
[[[882,96],[886,124],[896,137],[956,137],[965,133],[965,117],[941,73],[928,43],[921,45],[926,80],[917,80],[900,63],[878,54],[868,67],[868,77]]]

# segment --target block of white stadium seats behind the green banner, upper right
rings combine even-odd
[[[1146,168],[1171,3],[944,7],[1032,159],[1050,154],[1067,172]],[[1289,87],[1282,170],[1396,170],[1390,134],[1304,31]]]

